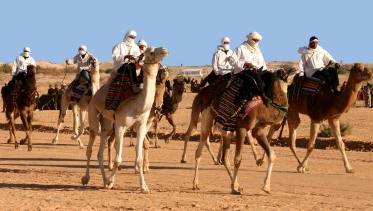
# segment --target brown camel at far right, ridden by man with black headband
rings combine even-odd
[[[354,172],[346,156],[345,144],[343,143],[339,127],[339,119],[342,114],[347,113],[355,103],[363,82],[372,79],[372,76],[373,72],[371,69],[368,69],[362,64],[355,63],[350,70],[347,85],[340,95],[335,96],[330,88],[324,85],[320,92],[314,96],[304,96],[299,100],[289,100],[287,122],[291,140],[290,149],[299,163],[297,167],[299,173],[304,173],[307,170],[307,161],[314,149],[320,124],[324,120],[328,120],[332,129],[332,134],[342,154],[346,172]],[[297,127],[300,124],[299,114],[305,114],[311,119],[310,140],[308,142],[307,153],[302,161],[296,151]]]

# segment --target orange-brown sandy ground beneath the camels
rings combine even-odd
[[[71,81],[74,75],[68,75]],[[8,80],[2,77],[0,82]],[[49,84],[61,77],[38,76],[39,92],[46,93]],[[103,189],[94,145],[91,180],[87,186],[80,181],[85,174],[85,149],[70,140],[72,115],[68,113],[58,145],[52,145],[58,111],[36,111],[34,116],[33,151],[27,146],[14,149],[7,144],[8,126],[4,114],[0,118],[0,209],[1,210],[371,210],[373,207],[373,109],[358,102],[342,122],[353,125],[352,134],[344,137],[347,156],[355,169],[345,173],[341,154],[333,139],[318,139],[309,161],[309,171],[297,173],[297,162],[287,147],[274,146],[277,160],[272,174],[271,194],[261,188],[266,166],[257,167],[252,151],[244,147],[239,183],[244,195],[230,194],[230,181],[223,166],[214,165],[204,149],[200,168],[201,190],[192,190],[194,151],[198,130],[187,152],[187,164],[181,164],[183,133],[189,124],[194,93],[189,89],[176,111],[177,134],[170,144],[161,141],[161,148],[150,149],[150,173],[145,175],[151,194],[139,191],[139,176],[134,173],[135,151],[125,138],[122,170],[114,188]],[[299,152],[305,154],[309,120],[302,116],[298,130]],[[17,137],[23,138],[21,121],[17,120]],[[161,138],[171,127],[161,122]],[[285,139],[288,137],[285,128]],[[277,137],[277,133],[275,134]],[[83,136],[88,142],[88,135]],[[212,143],[217,152],[218,144]],[[234,150],[234,146],[231,147]],[[262,153],[258,147],[259,153]],[[233,162],[233,152],[231,161]],[[106,161],[105,161],[106,163]]]

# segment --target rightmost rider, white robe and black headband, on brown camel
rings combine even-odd
[[[334,65],[335,69],[338,69],[340,65],[333,59],[333,57],[321,46],[319,46],[319,40],[317,37],[312,36],[309,40],[308,47],[304,46],[298,49],[301,59],[299,61],[299,76],[303,78],[307,77],[318,77],[326,74],[324,71],[325,66]],[[333,76],[331,76],[333,77]],[[334,90],[335,94],[338,94],[337,89],[339,85],[338,74],[335,73],[333,79],[334,84],[330,84]]]

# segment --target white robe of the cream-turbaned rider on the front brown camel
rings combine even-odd
[[[251,52],[245,44],[241,44],[234,50],[232,59],[230,60],[231,65],[234,67],[234,74],[244,70],[246,62],[253,64],[255,68],[259,69],[263,67],[263,70],[267,70],[263,54],[261,52]]]

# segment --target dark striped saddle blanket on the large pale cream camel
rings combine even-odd
[[[116,110],[120,102],[133,95],[134,93],[129,77],[126,74],[117,74],[110,84],[106,96],[105,108]]]

